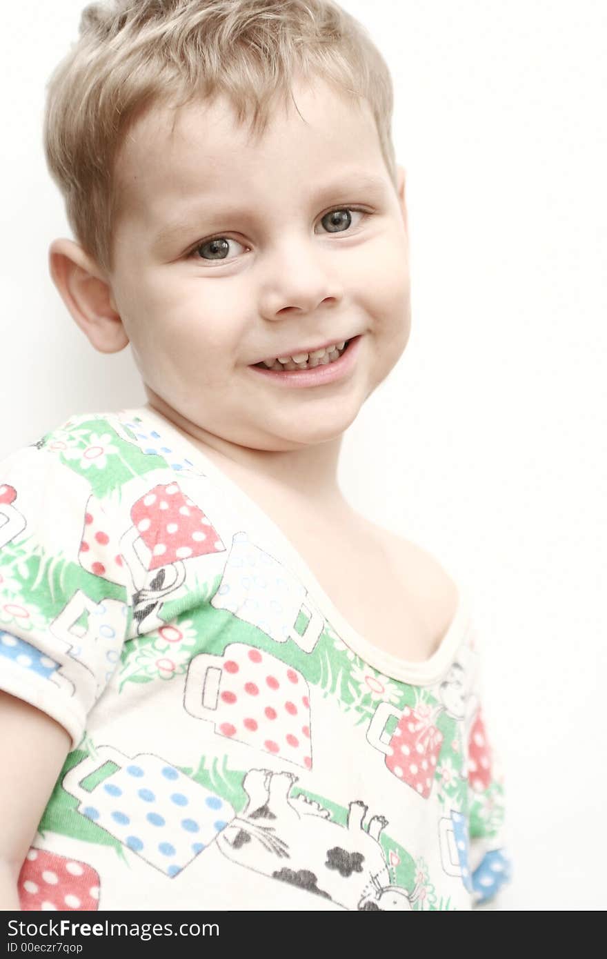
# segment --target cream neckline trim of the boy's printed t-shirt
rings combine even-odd
[[[268,516],[259,503],[256,503],[245,490],[224,473],[213,460],[205,456],[186,435],[176,429],[174,424],[157,410],[148,406],[131,407],[122,410],[128,417],[139,417],[142,422],[148,420],[156,433],[168,435],[174,446],[174,452],[187,451],[187,459],[199,466],[205,476],[209,476],[227,490],[230,497],[237,501],[245,512],[252,514],[258,526],[268,530],[270,539],[288,557],[292,571],[298,575],[308,592],[329,621],[334,631],[346,645],[369,666],[378,669],[386,678],[397,679],[411,685],[425,686],[440,679],[454,661],[455,652],[463,642],[470,622],[470,606],[467,590],[459,579],[455,580],[457,589],[457,607],[454,619],[443,636],[439,646],[427,660],[419,662],[401,659],[392,653],[379,649],[366,640],[339,612],[333,600],[324,591],[309,568],[303,556],[295,550],[286,533]]]

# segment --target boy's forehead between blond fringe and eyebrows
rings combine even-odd
[[[264,199],[353,165],[388,178],[366,102],[324,82],[292,92],[295,103],[277,106],[261,137],[237,123],[223,96],[179,109],[152,107],[129,131],[117,161],[122,210],[162,219],[175,201],[226,192]]]

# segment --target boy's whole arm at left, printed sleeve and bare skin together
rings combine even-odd
[[[125,528],[121,468],[108,461],[98,497],[92,480],[100,478],[83,477],[60,452],[66,436],[82,453],[97,433],[118,441],[113,425],[84,415],[0,461],[0,602],[27,610],[3,617],[0,629],[0,909],[18,908],[19,871],[128,629],[125,570],[116,563],[105,571]],[[89,508],[105,535],[90,535],[91,527],[84,550]],[[96,631],[91,614],[102,605],[113,637]]]

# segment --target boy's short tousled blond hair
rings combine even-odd
[[[266,129],[295,74],[370,105],[396,182],[393,92],[362,24],[333,0],[110,0],[82,11],[80,38],[51,76],[44,150],[84,250],[113,269],[116,159],[152,105],[227,96],[252,135]],[[175,101],[179,101],[175,104]]]

